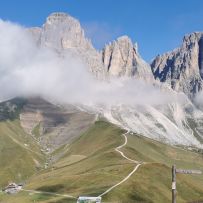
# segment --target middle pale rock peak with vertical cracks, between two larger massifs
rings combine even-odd
[[[149,64],[139,55],[137,44],[127,36],[105,46],[102,52],[105,71],[110,76],[153,79]]]

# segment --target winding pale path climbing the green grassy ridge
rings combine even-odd
[[[113,190],[114,188],[116,188],[117,186],[121,185],[122,183],[124,183],[125,181],[127,181],[136,171],[137,169],[143,164],[143,163],[140,163],[136,160],[133,160],[133,159],[130,159],[129,157],[127,157],[122,151],[120,151],[120,149],[122,149],[127,143],[128,143],[128,138],[127,138],[127,134],[129,132],[126,132],[123,134],[124,138],[125,138],[125,142],[124,144],[118,146],[115,148],[115,150],[120,153],[120,155],[124,158],[124,159],[127,159],[128,161],[130,162],[133,162],[136,164],[136,166],[134,167],[134,169],[123,179],[121,180],[119,183],[113,185],[112,187],[110,187],[108,190],[106,190],[105,192],[103,192],[101,195],[99,195],[99,197],[102,197],[104,196],[105,194],[109,193],[111,190]]]

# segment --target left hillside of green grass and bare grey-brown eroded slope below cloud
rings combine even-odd
[[[0,103],[0,188],[25,182],[61,156],[49,151],[88,129],[94,116],[72,106],[66,110],[40,98]],[[57,136],[56,136],[57,135]]]

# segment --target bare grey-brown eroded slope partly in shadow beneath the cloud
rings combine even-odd
[[[93,114],[80,111],[72,105],[57,106],[41,98],[26,99],[20,113],[20,124],[25,132],[50,151],[70,143],[94,121]]]

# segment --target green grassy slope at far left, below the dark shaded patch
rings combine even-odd
[[[0,122],[0,188],[10,181],[24,181],[42,162],[40,149],[19,120]]]

